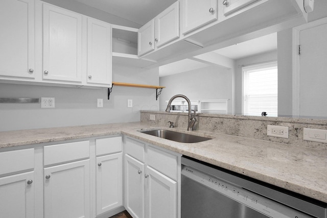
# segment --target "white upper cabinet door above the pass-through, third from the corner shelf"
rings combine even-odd
[[[218,19],[218,0],[182,0],[182,33]]]

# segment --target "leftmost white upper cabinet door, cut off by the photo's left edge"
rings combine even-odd
[[[35,78],[34,0],[2,0],[0,76]]]

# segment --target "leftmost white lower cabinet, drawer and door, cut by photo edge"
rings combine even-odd
[[[0,152],[0,217],[34,218],[34,149]]]

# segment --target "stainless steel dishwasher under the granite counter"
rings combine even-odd
[[[182,157],[182,218],[327,217],[327,204]]]

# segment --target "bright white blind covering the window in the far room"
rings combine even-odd
[[[243,114],[277,116],[277,62],[242,67]]]

